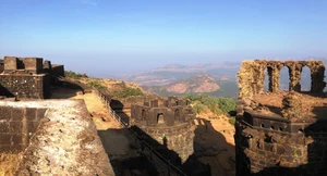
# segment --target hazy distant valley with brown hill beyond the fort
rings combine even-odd
[[[326,60],[320,59],[326,63]],[[181,65],[169,64],[137,75],[124,77],[123,80],[136,83],[146,91],[159,96],[209,95],[237,98],[239,88],[237,74],[241,62],[222,62],[220,64]],[[325,78],[326,80],[326,78]],[[311,74],[307,67],[303,68],[301,79],[302,90],[311,87]],[[289,86],[288,68],[281,70],[280,89]],[[265,89],[268,89],[266,74]]]

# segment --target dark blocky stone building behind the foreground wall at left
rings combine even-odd
[[[44,63],[41,58],[4,56],[1,62],[0,96],[17,99],[49,98],[52,76],[64,76],[62,65],[51,66],[49,61]]]

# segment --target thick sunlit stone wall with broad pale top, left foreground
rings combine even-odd
[[[21,159],[4,172],[114,175],[83,100],[0,101],[0,154]]]

